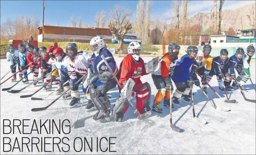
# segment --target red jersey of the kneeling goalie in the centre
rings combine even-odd
[[[147,75],[146,69],[144,66],[144,61],[142,58],[139,58],[139,62],[135,62],[131,54],[128,54],[125,58],[123,58],[117,78],[119,79],[120,85],[123,87],[123,82],[127,81],[129,78],[132,78],[135,83],[139,83],[140,77],[143,75]],[[120,88],[119,88],[120,90]]]

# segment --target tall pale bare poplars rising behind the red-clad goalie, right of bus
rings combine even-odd
[[[134,14],[134,31],[137,35],[140,36],[142,44],[148,44],[150,42],[149,26],[151,23],[151,6],[151,1],[146,1],[145,3],[145,0],[140,0],[137,3],[136,14]]]

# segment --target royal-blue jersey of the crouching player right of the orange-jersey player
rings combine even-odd
[[[172,80],[175,83],[184,82],[191,78],[190,68],[192,66],[192,60],[186,54],[176,61]]]

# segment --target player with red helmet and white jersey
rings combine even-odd
[[[60,76],[60,82],[59,82],[59,87],[57,87],[56,90],[56,94],[60,94],[62,93],[64,90],[68,90],[69,89],[69,82],[66,83],[63,86],[63,83],[65,83],[66,81],[69,81],[69,75],[68,75],[68,71],[66,68],[66,61],[69,61],[69,57],[66,55],[66,53],[64,53],[63,49],[60,47],[57,47],[53,50],[53,55],[54,57],[52,57],[50,59],[50,66],[52,68],[52,70],[57,69],[57,72]],[[64,62],[64,63],[63,63]],[[64,89],[63,89],[64,87]],[[66,92],[65,94],[62,95],[63,99],[70,99],[71,98],[71,90],[68,90],[68,92]]]

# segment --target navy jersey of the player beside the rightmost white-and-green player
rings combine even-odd
[[[246,57],[245,54],[244,54],[244,57]],[[233,55],[229,58],[229,72],[230,72],[230,74],[235,73],[235,69],[237,71],[241,72],[242,67],[243,67],[243,59],[238,60],[235,55]]]

